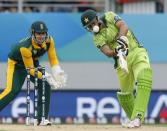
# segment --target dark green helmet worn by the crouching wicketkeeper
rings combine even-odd
[[[46,24],[42,21],[36,21],[34,23],[32,23],[31,25],[31,33],[47,33],[48,32],[48,28],[46,26]]]

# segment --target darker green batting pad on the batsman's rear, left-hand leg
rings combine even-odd
[[[134,96],[130,92],[117,92],[117,97],[120,105],[124,109],[128,118],[131,118],[133,107],[134,107]]]

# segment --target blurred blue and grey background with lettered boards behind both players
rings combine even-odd
[[[54,124],[118,124],[125,119],[116,98],[119,83],[113,60],[97,50],[81,23],[86,9],[118,13],[147,48],[153,68],[153,91],[145,123],[167,123],[167,0],[0,0],[0,89],[6,87],[8,52],[30,36],[30,26],[44,21],[68,74],[67,87],[53,90],[50,120]],[[47,55],[42,65],[50,72]],[[32,85],[33,87],[33,85]],[[3,111],[0,123],[24,123],[26,86]],[[31,93],[33,103],[33,93]],[[31,114],[33,107],[31,107]]]

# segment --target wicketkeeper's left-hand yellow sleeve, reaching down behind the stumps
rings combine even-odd
[[[32,53],[28,48],[21,47],[20,48],[21,56],[23,58],[23,62],[26,68],[34,68],[34,62],[32,59]],[[35,70],[30,69],[30,74],[34,76]],[[42,73],[38,71],[38,78],[42,78]]]

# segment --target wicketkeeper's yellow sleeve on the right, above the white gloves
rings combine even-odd
[[[48,49],[48,58],[51,66],[58,65],[59,61],[56,55],[55,47],[54,47],[54,40],[50,37],[50,47]]]

